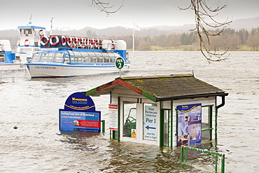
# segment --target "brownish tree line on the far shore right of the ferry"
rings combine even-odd
[[[211,33],[218,32],[217,30],[209,31]],[[133,47],[133,36],[116,36],[111,39],[123,39],[127,43],[127,48]],[[177,46],[193,46],[190,50],[195,50],[200,44],[200,39],[197,36],[197,32],[184,32],[184,33],[172,33],[161,34],[159,36],[135,36],[134,38],[135,50],[152,50],[152,46],[158,46],[162,48],[176,48]],[[213,36],[210,38],[210,44],[207,43],[207,47],[210,50],[240,50],[241,47],[245,47],[247,50],[259,49],[259,27],[253,28],[251,31],[247,29],[224,29],[219,36]]]

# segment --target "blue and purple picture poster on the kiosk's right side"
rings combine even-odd
[[[177,146],[200,143],[202,141],[202,104],[177,106],[178,144]]]

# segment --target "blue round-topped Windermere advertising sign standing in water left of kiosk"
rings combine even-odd
[[[101,132],[101,112],[95,111],[92,98],[76,92],[59,109],[59,130]]]

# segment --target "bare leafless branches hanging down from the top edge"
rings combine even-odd
[[[197,34],[200,39],[200,51],[204,57],[208,60],[208,62],[218,62],[221,60],[226,60],[228,58],[227,52],[228,50],[225,50],[223,53],[217,53],[216,51],[211,51],[207,49],[207,44],[210,45],[210,37],[211,36],[218,36],[220,35],[225,26],[230,24],[227,20],[225,22],[218,22],[214,20],[214,17],[218,15],[218,11],[221,11],[223,8],[225,8],[227,5],[221,5],[220,0],[218,0],[218,4],[216,4],[215,8],[211,8],[207,4],[207,1],[209,0],[190,0],[190,6],[187,8],[180,8],[181,10],[188,10],[191,9],[195,13],[195,29],[191,29],[191,31],[197,31]],[[105,12],[107,15],[111,13],[116,13],[120,8],[123,7],[124,0],[122,4],[115,10],[111,10],[113,6],[109,3],[109,1],[106,0],[92,0],[92,6],[97,6],[100,11]],[[213,22],[214,24],[210,24],[210,22],[207,22],[207,20],[210,20],[210,22]],[[219,28],[219,32],[210,32],[209,28]]]

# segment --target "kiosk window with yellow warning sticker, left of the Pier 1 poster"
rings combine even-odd
[[[123,137],[136,138],[137,103],[123,102]]]

